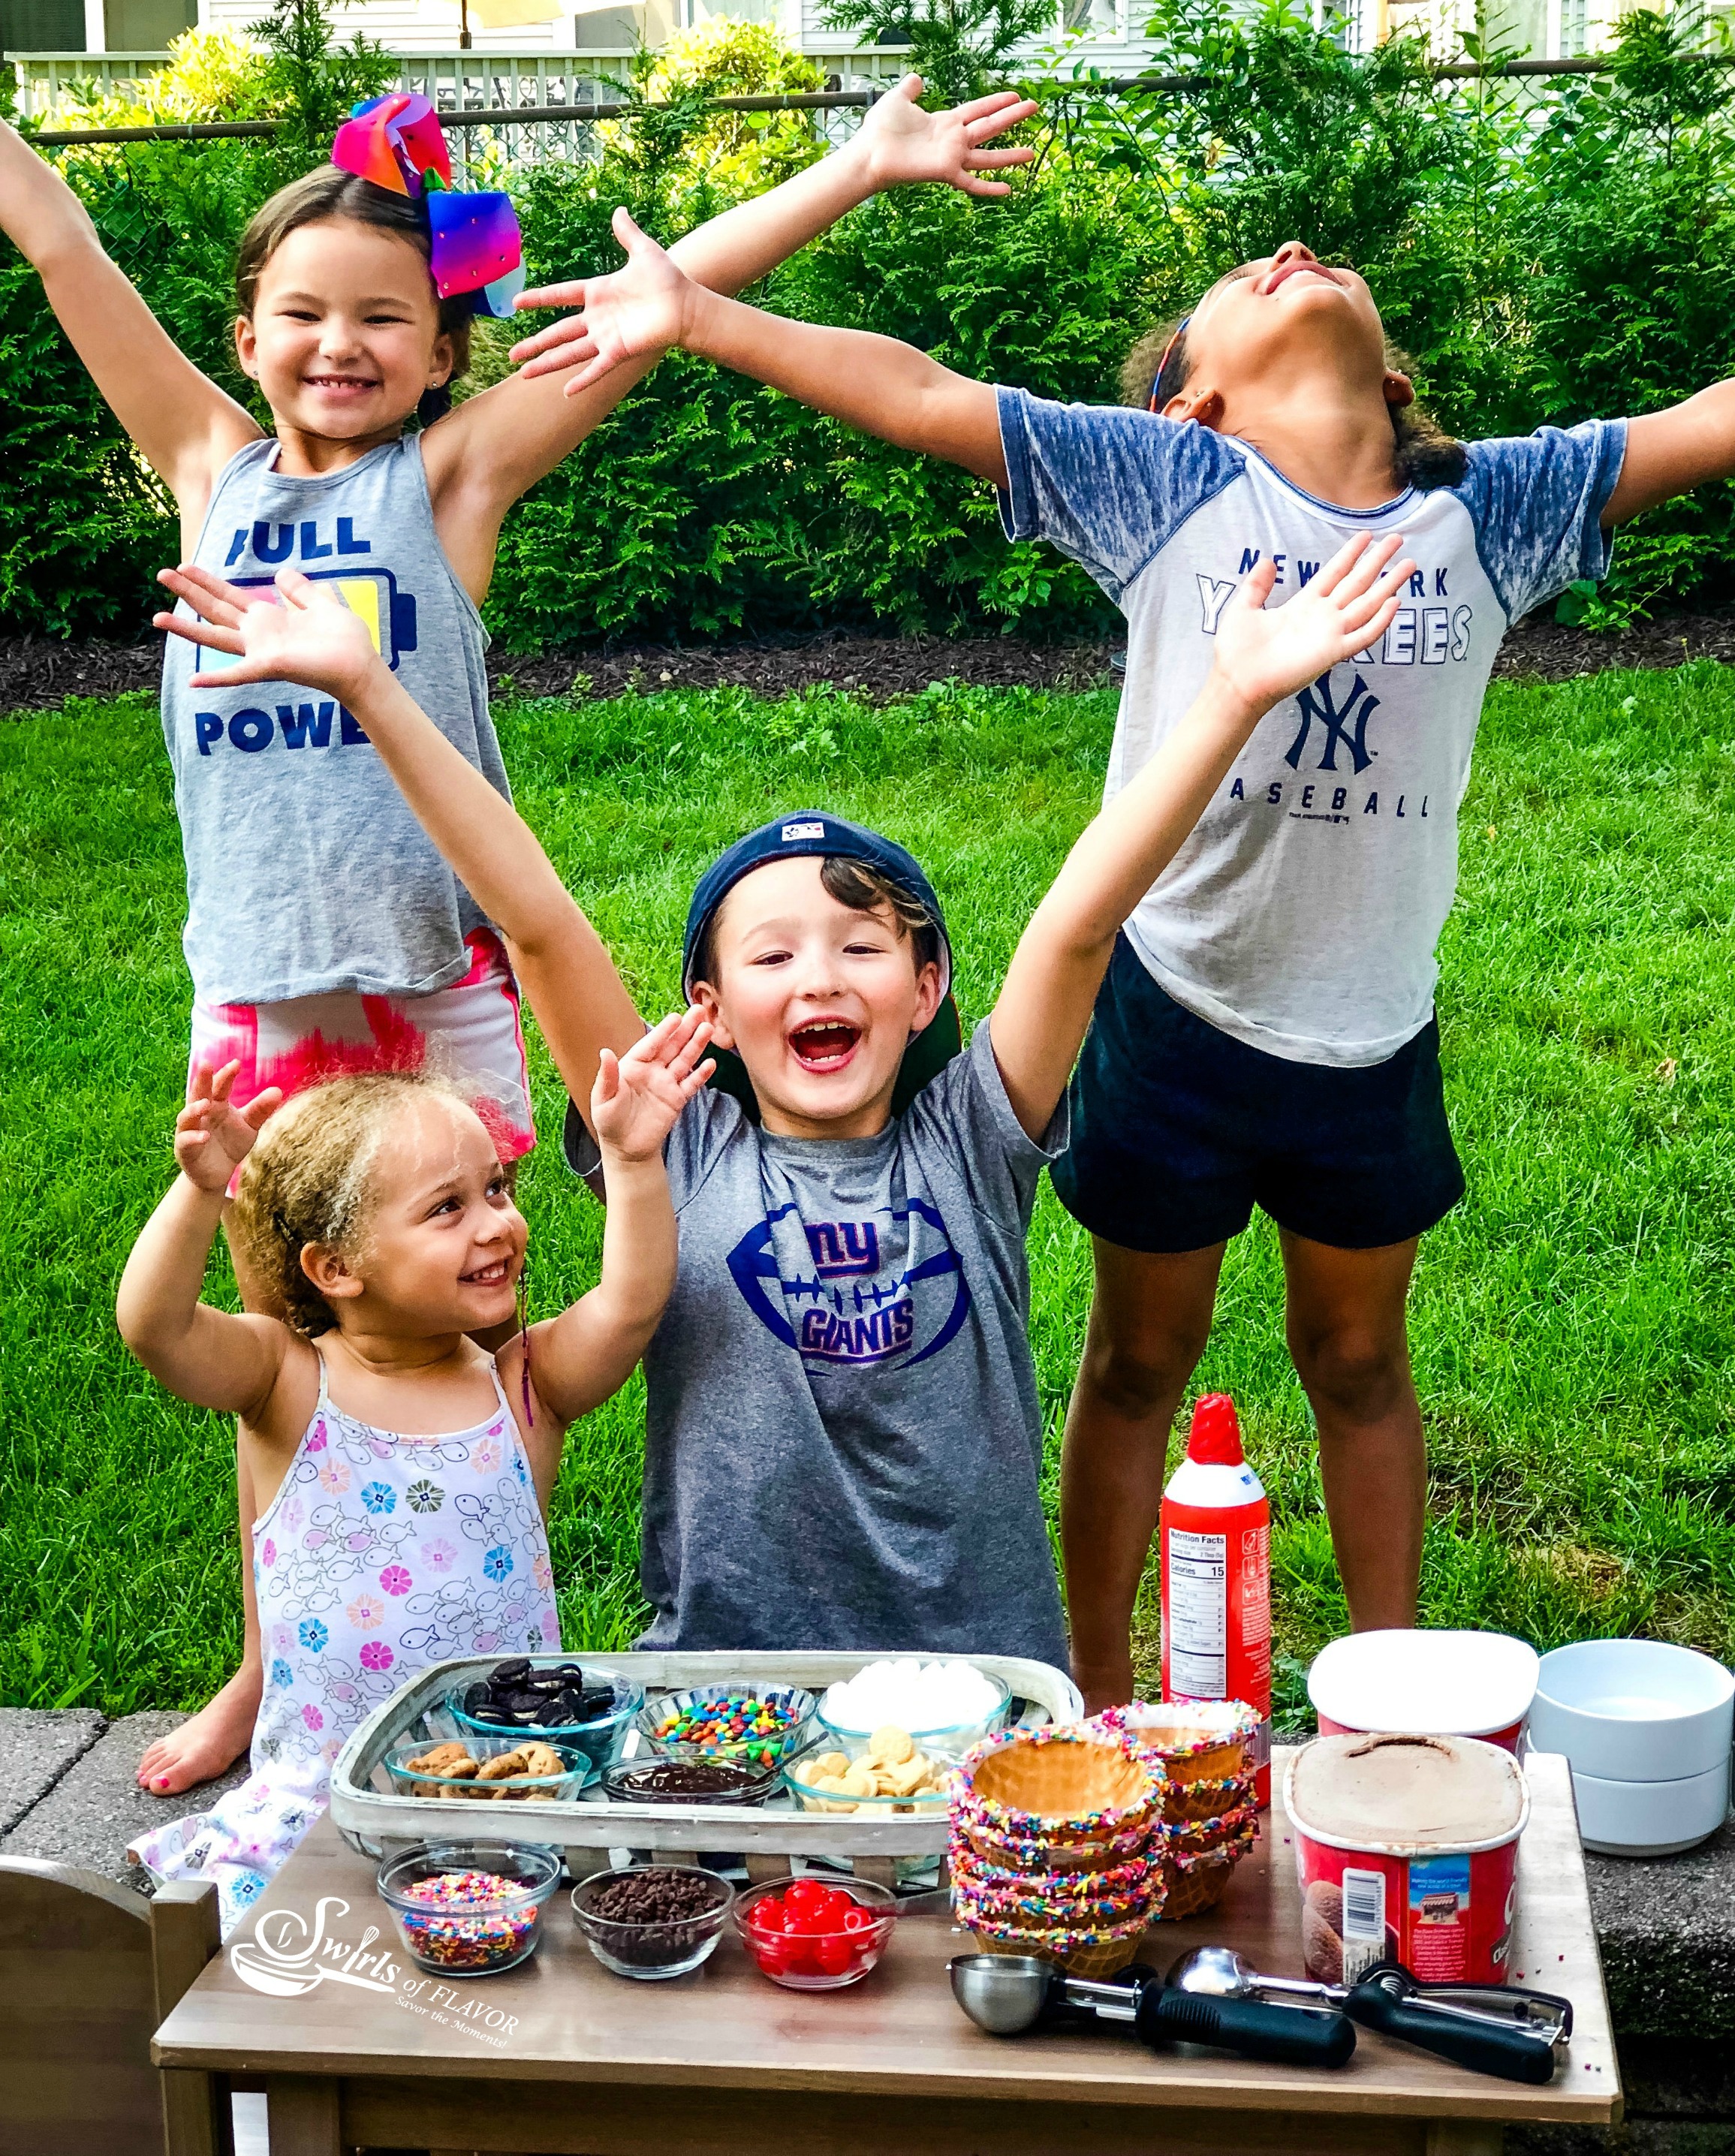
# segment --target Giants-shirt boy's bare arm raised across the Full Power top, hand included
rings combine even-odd
[[[239,666],[194,675],[198,688],[304,681],[356,714],[422,830],[511,942],[554,1065],[571,1097],[586,1102],[601,1052],[625,1054],[644,1022],[517,808],[440,733],[330,584],[280,569],[278,604],[196,567],[164,569],[159,580],[200,617],[157,614],[159,630],[241,653]]]

